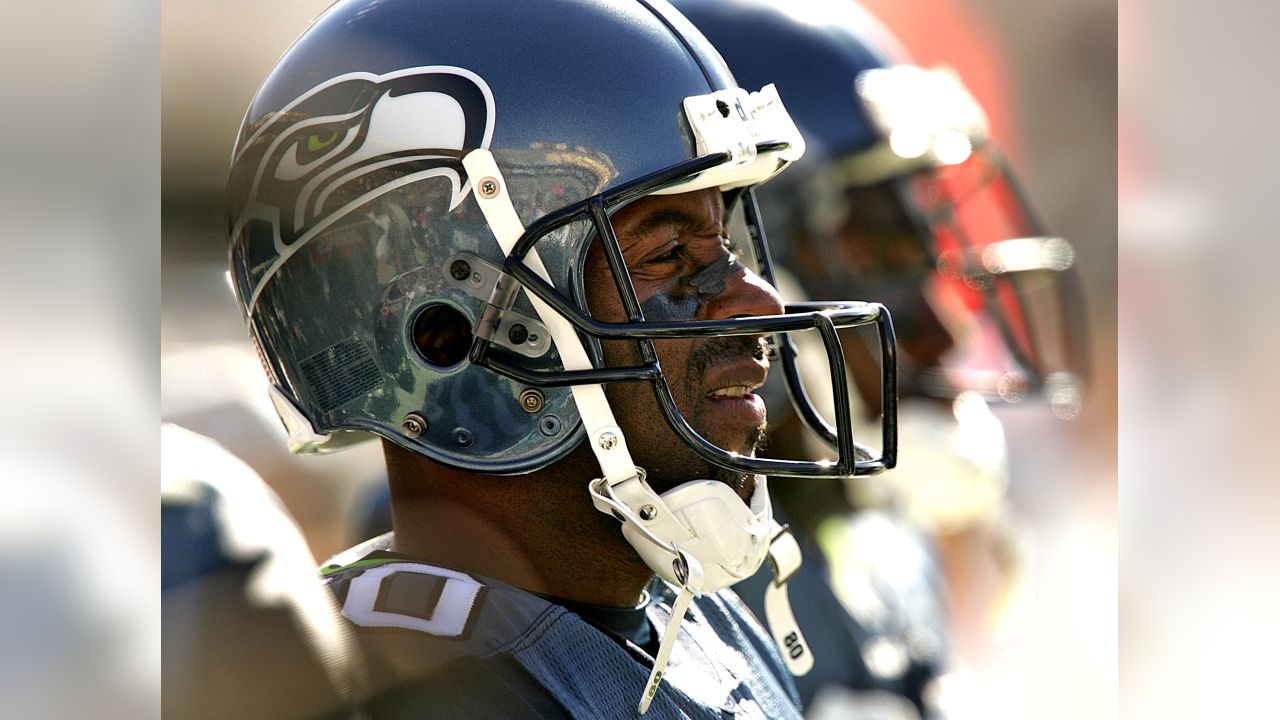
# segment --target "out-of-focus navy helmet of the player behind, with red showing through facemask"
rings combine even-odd
[[[1038,395],[1074,416],[1074,250],[1043,231],[960,79],[911,65],[852,1],[676,5],[739,82],[768,78],[785,99],[806,152],[758,193],[774,256],[810,296],[893,311],[902,395]]]

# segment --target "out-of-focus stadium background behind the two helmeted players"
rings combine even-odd
[[[160,414],[210,436],[280,495],[324,557],[355,539],[376,443],[293,457],[230,295],[221,187],[257,83],[328,0],[168,1],[161,20]],[[1033,206],[1079,254],[1093,378],[1083,414],[1006,407],[1027,524],[1024,602],[961,628],[982,717],[1116,716],[1116,5],[869,0],[922,64],[955,67],[993,115]],[[785,100],[785,99],[783,99]],[[909,451],[909,450],[906,450]]]

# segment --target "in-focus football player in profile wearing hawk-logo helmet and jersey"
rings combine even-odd
[[[233,152],[232,277],[291,448],[383,438],[394,533],[324,569],[374,716],[799,716],[764,475],[892,466],[896,401],[881,305],[768,282],[751,188],[803,150],[658,1],[342,1],[284,54]],[[759,452],[792,334],[831,369],[829,460]],[[765,557],[768,632],[723,592]]]

